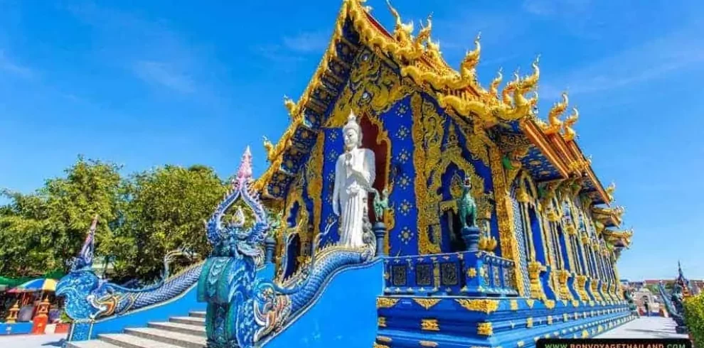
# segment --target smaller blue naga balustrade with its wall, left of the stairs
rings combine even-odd
[[[196,301],[195,291],[203,263],[169,277],[171,257],[184,254],[183,251],[164,257],[164,278],[152,286],[124,288],[98,278],[92,270],[96,227],[97,217],[93,219],[82,249],[72,261],[70,272],[56,286],[56,295],[65,298],[65,312],[73,320],[69,342],[121,332],[125,327],[143,326],[149,321],[166,320],[205,308]]]

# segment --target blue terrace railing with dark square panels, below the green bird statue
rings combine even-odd
[[[485,251],[390,257],[385,295],[516,296],[516,263]]]

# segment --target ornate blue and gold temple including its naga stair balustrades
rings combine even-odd
[[[82,252],[59,286],[69,314],[91,322],[196,289],[211,348],[532,347],[632,320],[616,265],[632,231],[577,144],[579,113],[560,119],[567,95],[543,121],[537,59],[482,87],[479,38],[454,70],[430,18],[413,33],[389,7],[393,31],[343,1],[321,65],[285,102],[292,123],[265,141],[269,168],[252,178],[247,148],[206,222],[205,263],[128,290]],[[340,244],[332,205],[351,112],[388,209],[369,209],[358,248]]]

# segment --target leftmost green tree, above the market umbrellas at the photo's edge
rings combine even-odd
[[[9,205],[0,208],[0,274],[32,276],[46,271],[68,271],[68,260],[78,253],[92,217],[100,217],[96,254],[105,252],[111,227],[122,202],[120,167],[85,160],[82,156],[65,170],[65,178],[46,180],[28,195],[4,190]]]

